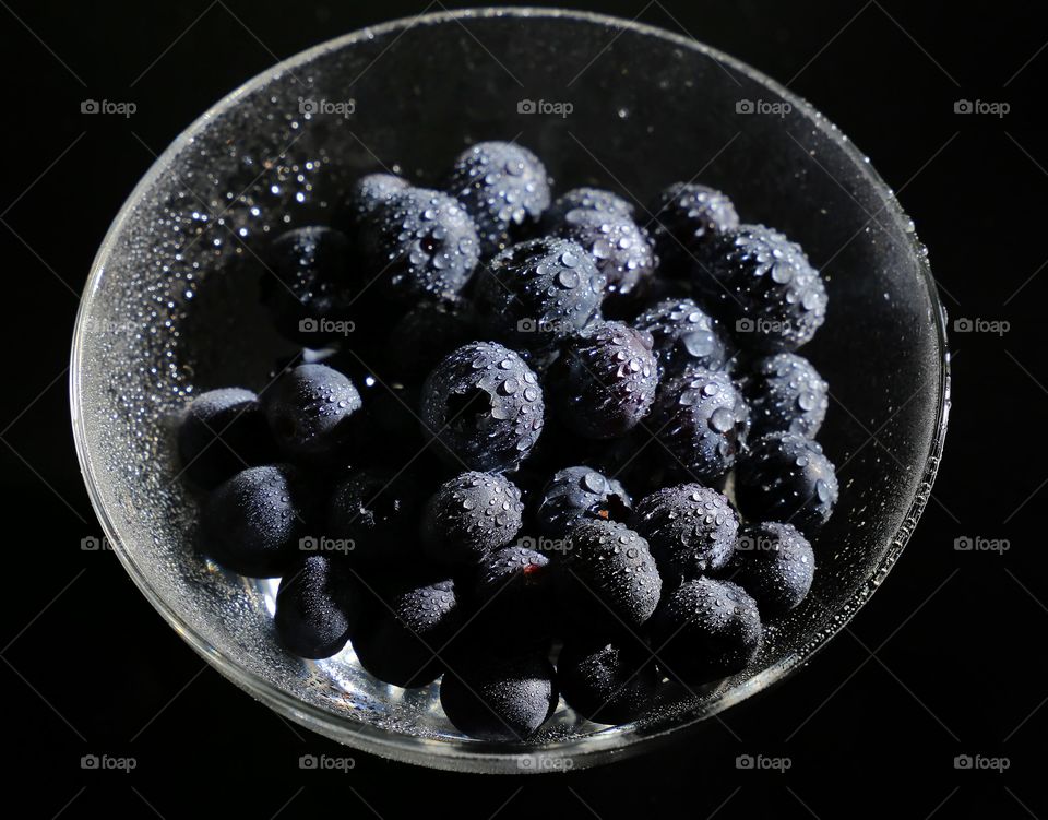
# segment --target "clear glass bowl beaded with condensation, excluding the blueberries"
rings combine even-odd
[[[641,206],[698,178],[746,222],[799,241],[829,318],[806,348],[831,384],[821,441],[841,501],[815,543],[813,594],[767,628],[750,668],[670,692],[606,727],[563,704],[526,744],[472,740],[436,686],[403,690],[352,649],[303,662],[275,643],[273,584],[199,559],[195,501],[172,421],[194,391],[259,389],[288,348],[243,264],[286,226],[326,221],[347,182],[392,168],[436,185],[464,146],[516,139],[558,190],[612,188]],[[642,210],[643,214],[644,211]],[[73,431],[92,502],[146,598],[223,675],[349,746],[440,769],[579,768],[677,739],[797,669],[858,611],[927,501],[949,408],[945,320],[926,252],[892,191],[818,111],[694,40],[579,12],[429,14],[283,62],[229,94],[164,152],[114,222],[87,282],[71,366]]]

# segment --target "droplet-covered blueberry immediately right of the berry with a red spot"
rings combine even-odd
[[[647,542],[626,524],[584,519],[572,528],[560,591],[580,621],[640,627],[655,611],[662,586]]]

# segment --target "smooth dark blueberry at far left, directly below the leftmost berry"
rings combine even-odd
[[[227,570],[250,578],[284,573],[309,519],[310,488],[295,467],[249,467],[218,485],[200,512],[200,546]]]

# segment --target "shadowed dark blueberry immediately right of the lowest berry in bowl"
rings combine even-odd
[[[594,723],[629,723],[651,706],[659,677],[651,652],[629,641],[574,639],[557,659],[569,706]]]

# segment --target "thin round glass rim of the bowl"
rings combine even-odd
[[[706,718],[718,714],[757,692],[766,690],[774,684],[781,682],[799,666],[807,664],[814,653],[825,646],[831,639],[848,625],[873,592],[880,587],[880,582],[897,561],[920,514],[924,512],[939,467],[946,433],[946,423],[950,411],[951,375],[950,354],[946,346],[945,307],[939,297],[939,289],[927,261],[927,255],[924,253],[924,247],[920,245],[915,233],[904,231],[909,242],[909,250],[917,260],[920,276],[927,287],[929,300],[933,308],[932,323],[936,330],[936,342],[939,353],[937,364],[941,368],[939,384],[937,385],[938,406],[934,432],[929,444],[928,453],[925,456],[920,480],[917,484],[918,491],[910,501],[909,508],[906,510],[898,528],[892,536],[886,554],[872,572],[867,585],[859,587],[836,611],[830,614],[827,619],[829,623],[820,631],[818,643],[803,655],[793,653],[778,663],[758,673],[745,684],[714,696],[699,712],[688,715],[686,721],[669,728],[641,736],[631,735],[628,732],[608,733],[603,737],[600,735],[586,736],[571,740],[556,741],[545,746],[514,744],[509,747],[474,741],[448,742],[445,740],[397,735],[385,729],[378,729],[365,723],[347,721],[333,712],[306,703],[295,696],[273,686],[258,674],[240,666],[235,659],[226,656],[211,645],[190,623],[186,622],[167,605],[164,597],[150,584],[144,573],[124,549],[119,533],[103,503],[99,489],[100,480],[95,471],[87,444],[87,427],[84,418],[82,395],[84,338],[87,332],[86,325],[88,323],[91,306],[105,275],[106,261],[114,250],[116,238],[131,217],[139,202],[142,200],[143,194],[160,178],[176,155],[180,153],[212,119],[236,105],[240,97],[257,91],[269,82],[279,78],[285,72],[294,71],[296,68],[313,61],[324,54],[342,49],[377,35],[385,35],[396,31],[407,31],[408,28],[421,25],[449,22],[461,24],[462,21],[465,20],[491,17],[516,17],[522,20],[565,19],[579,21],[609,29],[621,29],[621,32],[629,31],[642,34],[660,39],[668,45],[687,48],[705,55],[762,85],[777,97],[793,105],[814,128],[818,128],[822,132],[823,136],[842,150],[851,159],[855,167],[868,178],[868,181],[874,189],[883,194],[885,211],[896,224],[913,224],[900,205],[894,192],[873,169],[868,158],[836,126],[833,126],[806,99],[749,64],[690,36],[669,32],[658,26],[639,23],[635,20],[629,21],[607,14],[536,7],[455,9],[430,12],[413,17],[401,17],[325,40],[272,66],[211,106],[193,120],[188,128],[179,133],[171,144],[156,157],[150,169],[142,179],[139,180],[138,185],[120,207],[92,262],[91,273],[85,284],[83,296],[81,297],[74,325],[70,356],[69,390],[73,440],[80,470],[87,487],[92,507],[102,524],[105,536],[111,545],[112,551],[116,552],[124,570],[146,599],[168,625],[209,664],[252,697],[262,701],[271,709],[276,710],[284,716],[296,721],[307,728],[354,748],[359,748],[366,752],[436,769],[485,773],[525,773],[558,770],[556,765],[544,765],[546,761],[562,761],[571,758],[573,766],[590,766],[607,762],[610,759],[620,759],[627,754],[633,754],[642,750],[648,751],[669,740],[671,736],[674,740],[677,740],[683,737],[688,730],[695,730]]]

